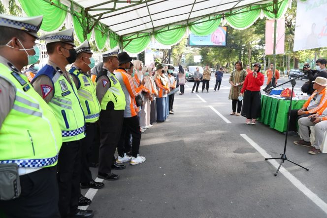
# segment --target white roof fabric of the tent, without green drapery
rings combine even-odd
[[[70,6],[69,0],[62,3]],[[92,17],[116,34],[148,33],[168,24],[187,24],[208,15],[222,14],[249,4],[271,0],[74,0],[88,9]],[[104,3],[104,4],[103,4]],[[103,4],[103,5],[99,5]]]

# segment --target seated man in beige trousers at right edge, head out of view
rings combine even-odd
[[[320,146],[323,144],[325,131],[327,130],[327,109],[320,110],[308,117],[302,117],[297,122],[301,140],[295,141],[294,144],[311,147],[308,151],[309,154],[319,154],[321,152]],[[315,141],[311,145],[308,127],[313,125],[315,126]]]

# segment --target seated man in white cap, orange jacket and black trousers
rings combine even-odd
[[[316,91],[312,93],[308,101],[304,103],[301,109],[291,110],[289,135],[297,136],[295,131],[296,122],[298,119],[317,113],[320,110],[324,110],[327,106],[327,79],[318,76],[313,82],[313,88]],[[286,134],[286,132],[284,132],[284,134]]]

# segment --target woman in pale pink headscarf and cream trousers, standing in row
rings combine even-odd
[[[147,93],[144,93],[143,106],[140,115],[140,125],[143,129],[148,129],[149,127],[152,127],[152,125],[150,124],[150,112],[154,87],[152,86],[149,70],[152,71],[152,68],[143,67],[142,69],[143,78],[145,80],[144,86],[149,90]]]

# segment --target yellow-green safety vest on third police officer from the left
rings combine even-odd
[[[79,102],[82,106],[87,123],[96,122],[100,115],[100,104],[96,95],[96,87],[91,78],[76,68],[71,68],[69,73],[77,76],[80,87],[78,89]]]

